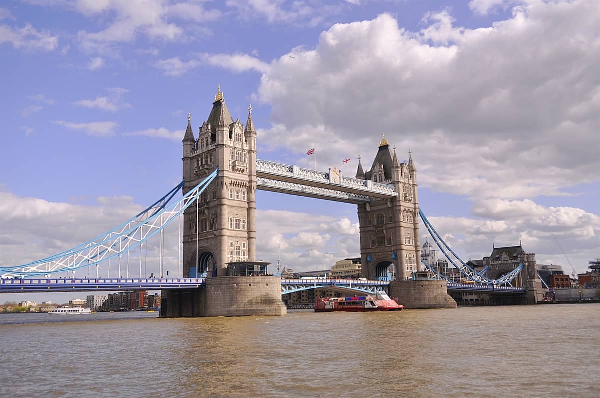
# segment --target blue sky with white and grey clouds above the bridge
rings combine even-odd
[[[585,272],[600,257],[598,20],[597,0],[3,1],[0,266],[177,185],[187,115],[197,134],[220,85],[234,119],[252,105],[259,158],[314,167],[315,147],[319,170],[354,176],[385,134],[465,260],[522,242]],[[355,205],[259,191],[257,208],[263,260],[359,255]],[[165,255],[176,269],[176,227]]]

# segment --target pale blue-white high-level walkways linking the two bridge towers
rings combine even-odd
[[[344,203],[370,203],[373,198],[395,198],[394,185],[344,177],[341,171],[310,170],[297,165],[256,160],[257,188]]]

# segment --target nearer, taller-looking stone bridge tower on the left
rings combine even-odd
[[[217,178],[184,214],[184,276],[226,276],[230,261],[256,260],[256,129],[233,120],[219,86],[208,119],[183,140],[184,194]]]

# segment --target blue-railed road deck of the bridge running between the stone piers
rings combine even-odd
[[[197,288],[205,284],[206,278],[0,278],[0,293],[171,290]],[[374,293],[375,291],[388,291],[389,282],[335,278],[281,279],[281,294],[319,287],[340,287],[364,293]],[[455,282],[448,282],[448,290],[479,293],[525,293],[523,288],[512,286]]]

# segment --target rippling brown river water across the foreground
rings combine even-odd
[[[598,397],[600,304],[0,314],[0,397]]]

